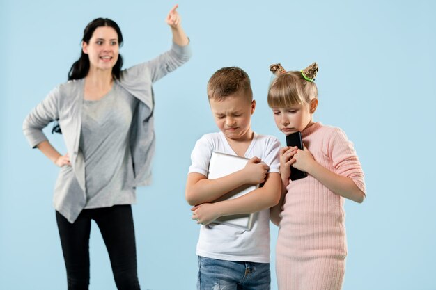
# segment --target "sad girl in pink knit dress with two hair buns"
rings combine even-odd
[[[271,209],[279,225],[277,281],[280,290],[339,290],[345,273],[345,198],[363,202],[364,172],[352,143],[336,127],[313,122],[318,65],[286,72],[280,64],[268,91],[274,121],[284,134],[302,132],[304,150],[280,151],[281,202]],[[307,177],[290,180],[293,168]]]

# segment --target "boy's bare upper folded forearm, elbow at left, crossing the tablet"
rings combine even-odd
[[[246,177],[244,169],[217,179],[208,179],[201,173],[189,173],[185,198],[191,205],[213,202],[229,191],[247,184]]]

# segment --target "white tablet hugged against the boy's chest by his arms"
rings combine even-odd
[[[212,152],[209,163],[208,179],[217,179],[241,170],[247,165],[247,161],[249,161],[249,159],[240,156]],[[226,193],[217,201],[238,198],[250,191],[254,191],[258,187],[259,184],[245,184],[229,193]],[[254,217],[255,214],[235,214],[232,216],[221,216],[212,223],[221,223],[249,231],[253,226]]]

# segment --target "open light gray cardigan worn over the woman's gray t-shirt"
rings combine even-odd
[[[139,99],[132,118],[130,150],[134,168],[134,180],[129,186],[144,186],[151,181],[151,161],[155,152],[153,126],[152,84],[187,62],[191,56],[189,45],[180,47],[173,43],[171,49],[151,61],[123,70],[118,84]],[[24,136],[35,148],[47,136],[42,129],[59,120],[71,166],[63,166],[54,188],[54,207],[70,223],[73,223],[86,205],[85,164],[79,151],[81,110],[84,99],[84,79],[63,83],[47,95],[27,115],[23,124]],[[73,170],[74,175],[65,174]]]

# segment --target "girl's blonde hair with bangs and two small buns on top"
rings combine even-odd
[[[270,108],[288,108],[295,104],[309,104],[318,97],[318,88],[313,82],[318,72],[318,65],[312,63],[301,72],[286,72],[280,63],[270,65],[270,71],[277,77],[268,90]]]

